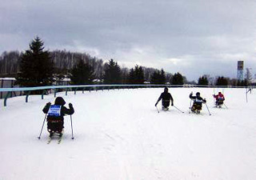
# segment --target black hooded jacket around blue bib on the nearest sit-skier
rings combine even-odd
[[[69,104],[70,109],[66,108],[66,106],[64,106],[65,104],[66,104],[66,102],[64,101],[64,99],[62,97],[57,97],[55,99],[54,105],[60,105],[61,106],[61,116],[57,117],[60,120],[63,120],[64,119],[63,116],[66,115],[66,114],[69,114],[69,115],[74,114],[74,108],[73,108],[72,104],[71,103]],[[43,108],[42,112],[47,114],[49,109],[50,109],[50,102],[48,102],[46,104],[46,106]],[[56,118],[56,117],[47,116],[47,119],[48,118]]]

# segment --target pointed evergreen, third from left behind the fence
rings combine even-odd
[[[118,62],[114,62],[110,59],[105,65],[104,83],[106,84],[118,84],[121,83],[121,68],[118,66]]]

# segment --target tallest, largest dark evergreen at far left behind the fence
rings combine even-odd
[[[30,43],[30,50],[22,54],[17,84],[20,86],[49,86],[54,82],[53,66],[44,42],[38,37]]]

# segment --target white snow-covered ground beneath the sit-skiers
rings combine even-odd
[[[228,109],[214,108],[218,89],[170,88],[174,107],[158,114],[163,88],[58,94],[74,105],[61,144],[38,140],[46,102],[54,96],[0,100],[0,180],[254,180],[256,93],[224,91]],[[206,98],[202,114],[189,114],[189,94]],[[160,109],[161,103],[158,103]]]

